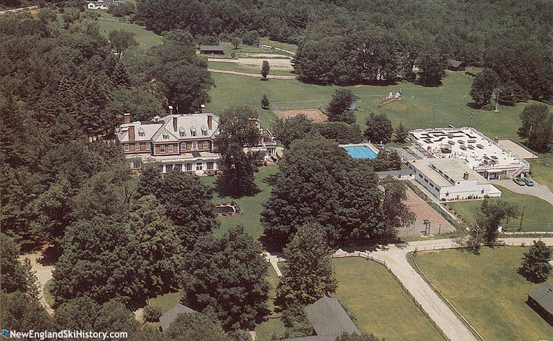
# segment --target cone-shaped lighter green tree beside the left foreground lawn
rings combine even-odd
[[[332,249],[322,230],[316,223],[303,224],[284,248],[286,267],[277,285],[277,305],[311,304],[338,289],[330,262]]]

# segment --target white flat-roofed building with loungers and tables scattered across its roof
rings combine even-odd
[[[435,158],[461,159],[489,180],[525,175],[530,164],[471,127],[409,131],[414,144]]]

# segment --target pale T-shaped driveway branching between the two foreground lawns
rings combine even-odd
[[[536,238],[506,238],[503,241],[507,246],[529,245]],[[541,238],[545,244],[553,246],[553,238]],[[413,295],[422,309],[442,329],[451,341],[474,341],[476,338],[468,327],[449,309],[449,306],[440,299],[437,293],[425,282],[422,277],[407,262],[407,253],[432,249],[451,249],[456,247],[455,240],[422,240],[410,242],[400,246],[389,245],[383,249],[362,254],[375,257],[386,262],[388,268],[403,283],[406,289]],[[337,251],[338,254],[344,253]]]

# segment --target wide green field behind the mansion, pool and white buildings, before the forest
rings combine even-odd
[[[247,105],[259,108],[261,97],[267,94],[274,101],[319,101],[325,108],[332,98],[337,86],[317,86],[304,84],[296,80],[271,79],[260,82],[259,79],[233,75],[212,75],[216,88],[212,88],[212,102],[208,110],[217,113],[232,105]],[[453,126],[473,126],[489,137],[511,137],[516,141],[516,134],[521,120],[518,115],[528,103],[516,106],[500,106],[499,113],[485,110],[473,110],[467,106],[471,102],[469,90],[472,78],[462,72],[447,72],[443,85],[436,88],[419,86],[402,82],[395,86],[350,86],[357,101],[357,123],[365,126],[368,111],[386,113],[394,126],[402,122],[408,129]],[[402,101],[395,101],[378,108],[377,101],[388,92],[402,90]],[[474,111],[474,119],[470,118]],[[263,126],[274,119],[274,114],[265,110],[261,115]]]

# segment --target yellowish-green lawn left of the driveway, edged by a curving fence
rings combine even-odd
[[[442,341],[384,266],[362,258],[332,260],[339,281],[334,295],[359,330],[388,341]]]

